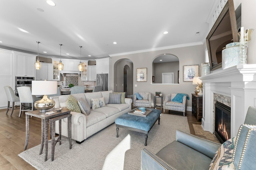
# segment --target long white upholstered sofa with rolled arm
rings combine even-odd
[[[92,92],[92,93],[80,93],[72,94],[77,100],[80,98],[86,99],[91,111],[89,115],[84,115],[83,113],[78,113],[71,111],[72,114],[72,139],[76,140],[77,143],[84,142],[85,139],[97,133],[98,131],[104,129],[108,125],[115,122],[115,119],[127,113],[132,109],[132,99],[125,98],[125,104],[108,104],[109,96],[112,93],[110,91],[104,92]],[[61,95],[56,97],[51,97],[55,101],[55,108],[66,107],[66,100],[70,95]],[[100,107],[92,110],[91,99],[104,97],[106,107]],[[58,125],[58,121],[56,121]],[[62,120],[62,135],[68,136],[68,126],[67,119]],[[56,126],[55,132],[59,133],[59,128]]]

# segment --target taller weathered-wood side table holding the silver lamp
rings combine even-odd
[[[28,147],[28,138],[29,138],[29,116],[38,117],[41,119],[41,147],[39,154],[42,154],[43,149],[45,147],[45,159],[47,160],[48,155],[48,119],[52,117],[57,117],[65,114],[70,114],[68,109],[63,109],[62,111],[57,112],[54,108],[50,109],[50,111],[54,111],[50,115],[46,115],[45,112],[39,112],[39,110],[28,111],[26,112],[26,142],[25,142],[25,149]]]

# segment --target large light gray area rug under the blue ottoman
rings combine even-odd
[[[190,133],[187,117],[162,113],[160,125],[157,121],[148,133],[146,148],[158,152],[175,140],[176,129]],[[48,145],[51,146],[51,143]],[[39,170],[138,170],[143,148],[143,133],[119,128],[117,138],[116,125],[113,123],[82,144],[72,140],[72,149],[68,148],[68,141],[62,142],[62,145],[57,143],[54,161],[51,161],[49,147],[48,160],[44,162],[44,152],[39,155],[40,145],[18,156]]]

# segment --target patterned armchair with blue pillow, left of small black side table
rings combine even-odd
[[[142,96],[141,100],[138,100],[136,93],[133,96],[133,106],[134,107],[151,107],[151,93],[149,92],[139,92],[137,93]]]

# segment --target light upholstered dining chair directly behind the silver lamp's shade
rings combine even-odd
[[[20,97],[20,114],[22,111],[33,111],[34,110],[34,102],[40,100],[41,98],[37,98],[32,95],[31,88],[27,86],[17,87],[18,94]],[[26,107],[25,104],[29,104],[29,107]],[[31,106],[32,105],[32,106]]]

